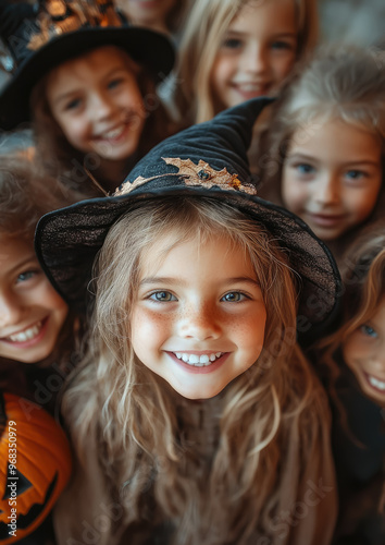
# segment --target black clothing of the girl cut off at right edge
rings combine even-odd
[[[385,486],[385,411],[364,396],[340,362],[336,392],[348,431],[334,408],[333,450],[340,497],[335,545],[384,545],[385,512],[378,507]]]

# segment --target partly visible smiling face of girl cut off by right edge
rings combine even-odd
[[[363,393],[385,407],[385,298],[374,316],[348,337],[343,353]]]

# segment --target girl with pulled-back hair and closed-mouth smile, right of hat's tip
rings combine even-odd
[[[258,157],[259,194],[303,219],[338,261],[382,214],[383,55],[320,48],[282,94]]]

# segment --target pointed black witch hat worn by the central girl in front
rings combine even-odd
[[[122,215],[145,199],[206,195],[225,201],[272,233],[301,280],[302,330],[324,325],[335,312],[339,292],[339,274],[330,251],[302,220],[259,198],[249,184],[252,125],[270,101],[244,102],[163,141],[136,165],[113,196],[44,216],[36,231],[36,252],[59,293],[73,305],[85,300],[94,258]]]

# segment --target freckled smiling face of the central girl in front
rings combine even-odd
[[[249,257],[226,239],[183,242],[161,258],[166,242],[142,256],[133,348],[181,396],[212,398],[261,353],[262,292]]]

